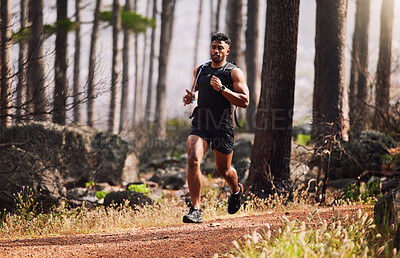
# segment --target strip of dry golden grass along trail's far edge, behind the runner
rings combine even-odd
[[[228,198],[220,187],[215,187],[213,179],[204,179],[202,194],[205,221],[227,216]],[[313,204],[308,202],[308,199],[305,191],[296,192],[293,202],[288,202],[287,197],[277,195],[268,200],[260,200],[253,196],[246,201],[245,208],[238,212],[238,216],[311,208]],[[60,236],[177,225],[182,223],[182,216],[188,211],[185,202],[175,197],[164,197],[155,205],[135,209],[130,208],[128,203],[116,209],[99,206],[92,210],[69,209],[61,204],[48,214],[35,213],[34,203],[33,197],[28,195],[24,201],[20,200],[16,213],[5,214],[0,220],[0,238]]]

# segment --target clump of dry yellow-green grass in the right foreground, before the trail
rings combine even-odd
[[[382,237],[368,213],[357,212],[354,219],[341,217],[319,221],[310,214],[309,223],[282,218],[285,226],[273,236],[268,229],[256,231],[224,257],[399,257],[393,240]],[[315,227],[315,225],[319,225]],[[269,227],[269,226],[268,226]],[[218,257],[215,255],[214,257]]]

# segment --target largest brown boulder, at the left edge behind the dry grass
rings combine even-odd
[[[0,192],[11,196],[28,186],[53,203],[66,196],[66,188],[138,179],[137,158],[128,142],[92,128],[19,124],[6,128],[0,144],[0,176],[7,178],[0,179]]]

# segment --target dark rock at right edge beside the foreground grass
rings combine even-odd
[[[378,200],[374,206],[375,223],[378,226],[391,228],[395,226],[395,244],[400,247],[400,189],[397,188]]]

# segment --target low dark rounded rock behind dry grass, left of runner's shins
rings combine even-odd
[[[124,205],[125,201],[129,201],[129,206],[132,208],[135,208],[137,205],[143,206],[146,204],[153,204],[153,200],[145,194],[126,190],[107,194],[104,198],[103,205],[105,207],[110,207],[112,205],[118,207],[120,205]]]

